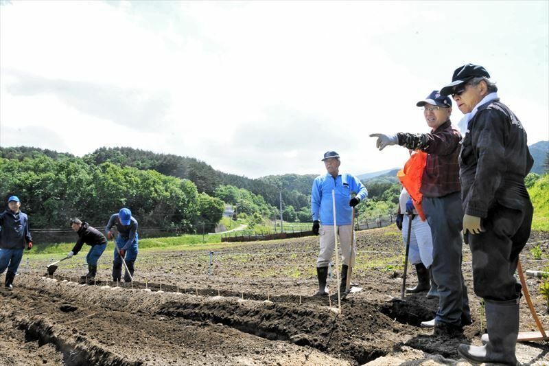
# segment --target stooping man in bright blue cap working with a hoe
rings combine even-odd
[[[130,271],[130,275],[133,277],[135,269],[135,260],[137,259],[137,220],[132,216],[132,211],[124,207],[121,208],[118,214],[113,214],[108,220],[108,224],[105,227],[108,240],[112,239],[114,232],[113,227],[118,229],[118,236],[116,238],[116,246],[120,250],[120,255],[126,261],[126,266]],[[117,249],[115,248],[114,261],[113,261],[113,281],[120,281],[122,275],[122,260],[120,259]],[[124,281],[130,282],[132,279],[128,275],[128,271],[124,273]]]

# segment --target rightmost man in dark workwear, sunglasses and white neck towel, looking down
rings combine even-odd
[[[480,347],[461,344],[472,363],[516,365],[519,298],[515,279],[519,253],[530,237],[533,207],[524,177],[534,163],[521,122],[498,98],[498,87],[480,65],[458,67],[452,95],[464,114],[459,156],[463,232],[473,255],[473,284],[484,299],[488,334]]]

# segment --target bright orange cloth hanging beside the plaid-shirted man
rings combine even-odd
[[[404,169],[399,170],[397,173],[398,178],[400,179],[410,197],[412,197],[412,202],[416,207],[417,214],[421,218],[421,221],[425,221],[425,213],[423,212],[423,207],[421,207],[421,200],[423,199],[423,194],[421,194],[421,177],[423,176],[423,170],[425,169],[425,163],[427,162],[427,153],[421,150],[416,150],[412,153],[412,156],[406,164],[404,164]],[[404,214],[404,212],[403,212]]]

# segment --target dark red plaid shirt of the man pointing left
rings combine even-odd
[[[460,192],[458,155],[461,134],[448,120],[431,133],[399,133],[399,145],[428,153],[421,178],[425,197],[443,197]]]

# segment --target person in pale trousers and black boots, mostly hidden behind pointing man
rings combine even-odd
[[[406,213],[403,214],[403,213]],[[411,216],[411,217],[410,217]],[[433,238],[431,234],[431,228],[427,221],[422,221],[410,198],[410,194],[406,191],[406,188],[402,187],[399,196],[399,208],[397,212],[397,227],[402,231],[402,239],[404,245],[408,240],[408,225],[410,225],[410,218],[412,227],[410,231],[410,248],[408,253],[408,259],[410,263],[416,267],[417,271],[417,286],[413,288],[406,288],[406,293],[421,293],[428,291],[427,298],[432,299],[439,297],[439,291],[436,288],[436,284],[430,275],[433,262]]]

